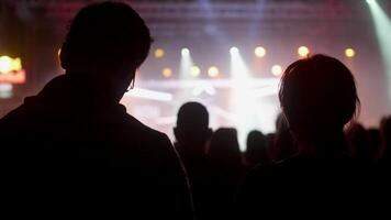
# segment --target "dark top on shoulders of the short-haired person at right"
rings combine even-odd
[[[323,213],[335,217],[339,212],[371,210],[371,204],[386,198],[382,195],[386,182],[380,179],[382,175],[377,168],[376,164],[349,158],[300,156],[257,166],[244,177],[238,189],[237,216],[260,219],[289,213],[295,219],[313,212],[319,216],[311,217],[317,218]]]

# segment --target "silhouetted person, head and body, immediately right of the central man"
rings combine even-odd
[[[234,195],[244,173],[236,130],[217,129],[209,143],[208,157],[212,166],[210,202],[213,208],[209,219],[230,219]]]

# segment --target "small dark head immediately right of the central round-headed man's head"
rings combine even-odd
[[[211,138],[208,156],[222,165],[242,165],[242,153],[237,141],[237,131],[233,128],[217,129]]]

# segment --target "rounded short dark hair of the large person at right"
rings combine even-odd
[[[291,64],[282,76],[279,99],[290,127],[342,128],[359,107],[350,70],[325,55]]]

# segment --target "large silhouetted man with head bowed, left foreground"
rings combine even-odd
[[[65,75],[0,121],[4,167],[15,175],[4,180],[34,201],[13,197],[42,213],[53,207],[70,213],[80,205],[89,217],[99,216],[121,200],[116,209],[125,207],[126,217],[192,218],[185,170],[169,139],[119,103],[150,43],[143,19],[125,3],[94,3],[77,13],[60,53]],[[24,177],[26,170],[34,175]],[[88,206],[94,208],[89,212]]]

